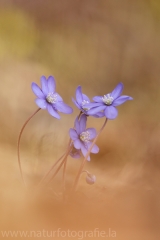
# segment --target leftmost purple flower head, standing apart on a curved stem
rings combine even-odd
[[[50,115],[60,119],[58,112],[70,114],[72,108],[63,102],[61,96],[56,92],[56,82],[52,76],[48,79],[41,77],[41,88],[32,83],[32,91],[37,96],[35,102],[39,108],[47,109]]]

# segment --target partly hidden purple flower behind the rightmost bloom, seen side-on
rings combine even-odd
[[[103,112],[98,112],[97,114],[88,114],[90,108],[86,107],[86,104],[90,103],[90,99],[82,93],[81,86],[78,86],[76,89],[76,101],[72,98],[73,103],[76,105],[77,108],[80,109],[86,115],[92,115],[93,117],[104,117]]]

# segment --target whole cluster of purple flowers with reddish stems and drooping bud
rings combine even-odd
[[[62,159],[60,166],[58,167],[56,173],[54,174],[55,176],[59,169],[63,166],[63,164],[66,165],[67,161],[66,159],[68,155],[70,155],[73,158],[80,158],[81,155],[84,156],[84,160],[81,164],[80,170],[74,183],[74,189],[76,189],[79,177],[82,172],[87,173],[86,182],[88,184],[94,184],[94,182],[96,181],[96,177],[86,170],[83,171],[83,167],[86,160],[90,161],[90,153],[99,152],[99,148],[95,144],[95,142],[99,136],[99,133],[105,127],[107,119],[109,120],[115,119],[118,115],[118,110],[116,107],[128,100],[132,100],[132,97],[126,95],[121,96],[122,90],[123,84],[119,83],[112,92],[107,93],[103,96],[95,96],[93,97],[93,102],[91,102],[89,97],[82,93],[81,86],[78,86],[76,89],[76,99],[72,98],[72,101],[76,105],[76,107],[80,110],[80,113],[78,117],[75,119],[74,127],[70,128],[69,130],[70,143],[68,146],[67,153],[62,155],[62,157],[59,160],[57,160],[57,162],[51,168],[51,170],[53,170],[56,164],[58,164],[59,161]],[[48,77],[48,79],[44,76],[41,77],[41,88],[36,83],[32,83],[32,91],[37,97],[35,102],[39,107],[39,109],[32,116],[34,116],[40,109],[46,109],[51,116],[57,119],[60,119],[59,113],[65,114],[72,113],[73,111],[72,108],[68,106],[66,103],[64,103],[62,97],[56,92],[56,83],[55,79],[52,76]],[[95,128],[86,128],[87,119],[89,116],[95,118],[105,117],[105,123],[102,126],[99,133],[96,132]],[[31,117],[29,119],[31,119]],[[26,122],[28,122],[28,120]],[[25,125],[26,123],[24,124],[24,126]],[[24,127],[22,128],[22,131],[23,129]],[[22,131],[20,133],[18,142],[18,161],[21,175],[22,170],[19,158],[19,143]],[[47,173],[46,176],[48,176],[51,170]],[[65,166],[63,178],[64,176]]]

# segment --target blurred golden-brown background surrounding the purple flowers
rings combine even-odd
[[[31,82],[39,84],[42,75],[55,77],[74,113],[57,121],[40,111],[27,125],[21,142],[26,190],[17,138],[37,108]],[[76,87],[92,98],[119,82],[134,101],[119,107],[98,139],[99,154],[86,164],[96,184],[86,185],[82,176],[65,205],[48,190],[33,197],[35,183],[65,151],[78,114],[71,100]],[[159,0],[0,0],[0,102],[1,230],[111,228],[119,240],[159,239]],[[103,121],[90,118],[88,126],[98,130]],[[80,162],[69,158],[68,188]],[[58,194],[61,177],[50,186]]]

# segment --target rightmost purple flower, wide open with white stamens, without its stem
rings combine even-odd
[[[88,114],[97,114],[98,112],[104,111],[106,118],[115,119],[118,115],[115,107],[133,99],[125,95],[120,96],[122,90],[123,84],[119,83],[111,93],[104,96],[95,96],[93,98],[94,103],[86,104],[86,107],[91,108]]]

